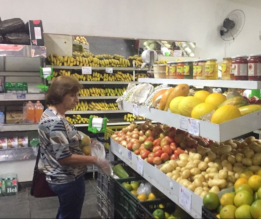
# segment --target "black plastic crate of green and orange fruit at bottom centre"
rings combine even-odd
[[[164,205],[164,208],[161,209],[170,214],[173,211],[175,211],[176,204],[173,201],[171,201],[169,198],[149,200],[149,201],[139,203],[137,207],[136,218],[155,218],[152,215],[153,211],[159,209],[160,204]]]

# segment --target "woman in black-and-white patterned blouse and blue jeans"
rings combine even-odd
[[[77,130],[65,118],[65,112],[79,102],[81,87],[69,76],[54,80],[46,94],[50,107],[43,112],[38,127],[43,171],[60,202],[56,218],[81,217],[87,165],[97,165],[105,174],[110,173],[107,160],[84,155],[79,148]]]

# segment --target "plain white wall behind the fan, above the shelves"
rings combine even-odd
[[[46,33],[187,40],[196,42],[196,56],[220,60],[261,50],[259,0],[12,0],[3,6],[2,20],[41,19]],[[243,10],[246,22],[235,42],[226,44],[218,26],[233,9]]]

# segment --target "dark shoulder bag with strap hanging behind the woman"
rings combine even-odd
[[[57,196],[49,187],[47,181],[46,181],[46,174],[40,173],[38,169],[38,163],[40,159],[40,145],[36,157],[36,163],[33,171],[33,181],[32,181],[32,187],[31,187],[31,195],[36,198],[42,198],[42,197],[53,197]]]

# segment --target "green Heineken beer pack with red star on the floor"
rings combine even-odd
[[[1,194],[0,196],[17,195],[18,182],[16,174],[5,174],[1,176]]]

